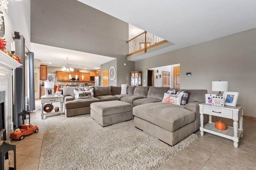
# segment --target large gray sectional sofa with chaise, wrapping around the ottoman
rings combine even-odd
[[[199,104],[205,102],[207,94],[207,90],[188,90],[187,104],[178,106],[162,102],[169,87],[128,86],[127,94],[121,95],[121,86],[94,86],[94,98],[78,100],[74,99],[73,89],[63,88],[67,117],[90,113],[90,104],[94,102],[120,100],[134,106],[132,112],[135,127],[169,145],[175,145],[199,129]],[[206,123],[207,115],[204,116]]]

